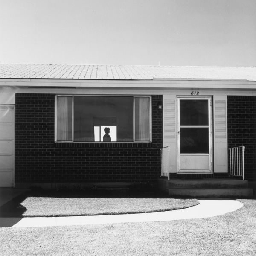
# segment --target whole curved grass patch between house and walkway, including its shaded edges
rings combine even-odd
[[[16,204],[10,204],[9,209],[4,211],[4,216],[55,217],[127,214],[184,209],[199,204],[196,199],[153,198],[149,197],[149,194],[145,198],[129,196],[131,194],[124,192],[92,193],[89,196],[72,193],[30,192],[18,202],[16,201]]]

